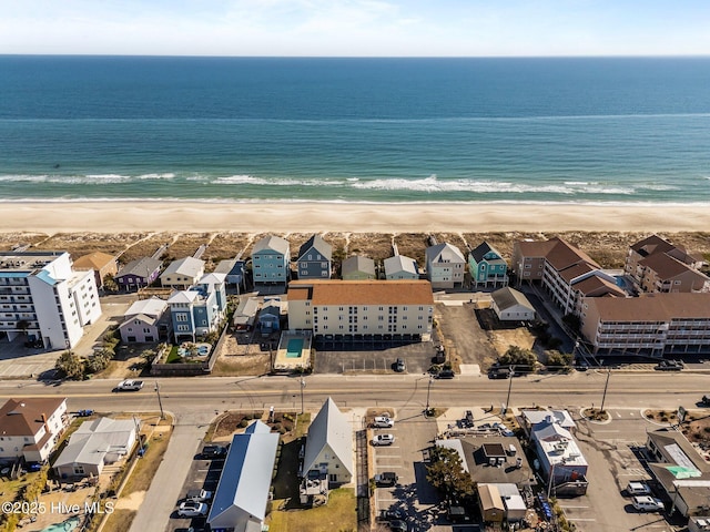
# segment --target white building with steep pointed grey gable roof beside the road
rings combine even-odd
[[[303,459],[304,474],[318,470],[331,483],[347,483],[353,479],[353,428],[329,397],[321,407],[306,438]]]

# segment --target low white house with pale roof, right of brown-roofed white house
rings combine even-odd
[[[69,437],[69,443],[54,462],[60,478],[99,475],[105,464],[128,457],[138,441],[134,419],[98,418],[84,421]]]

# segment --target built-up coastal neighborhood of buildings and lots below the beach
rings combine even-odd
[[[505,250],[470,235],[393,237],[371,254],[327,233],[288,236],[250,237],[227,256],[211,252],[214,238],[183,256],[165,242],[138,257],[130,246],[0,252],[0,371],[20,382],[0,409],[2,500],[81,493],[130,515],[122,528],[111,512],[23,511],[12,525],[135,530],[158,519],[122,502],[144,474],[141,498],[164,504],[180,489],[160,518],[171,532],[326,530],[332,519],[342,530],[612,530],[596,521],[609,504],[618,530],[710,529],[710,389],[639,407],[632,422],[605,408],[610,379],[671,387],[710,370],[702,252],[645,235],[602,265],[562,236]],[[252,391],[217,391],[225,377],[248,377]],[[534,391],[597,377],[601,401],[595,388],[584,407]],[[226,399],[200,409],[210,382]],[[409,383],[417,399],[399,399]],[[224,406],[232,397],[241,408]],[[178,450],[182,408],[210,419]],[[616,426],[629,436],[600,451]],[[171,452],[184,477],[161,487]]]

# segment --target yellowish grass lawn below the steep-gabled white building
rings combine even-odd
[[[270,532],[333,532],[357,530],[357,499],[353,489],[331,491],[327,504],[308,510],[280,511],[274,500]]]

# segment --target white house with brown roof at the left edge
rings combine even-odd
[[[68,422],[65,398],[8,399],[0,408],[0,458],[47,460]]]

